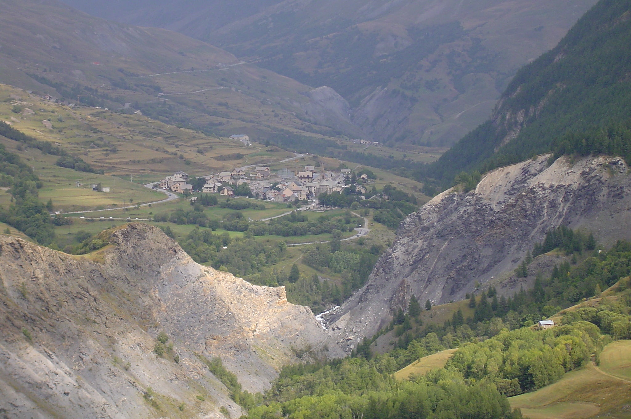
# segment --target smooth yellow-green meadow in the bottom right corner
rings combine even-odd
[[[531,419],[628,418],[623,405],[631,401],[631,382],[603,372],[628,367],[631,341],[610,343],[601,357],[606,363],[600,368],[590,362],[550,386],[509,398],[510,405]]]

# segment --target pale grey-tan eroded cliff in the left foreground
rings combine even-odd
[[[238,417],[204,359],[220,356],[244,389],[262,391],[294,351],[341,355],[283,287],[196,264],[141,223],[86,256],[0,236],[0,280],[0,413],[10,418],[220,418],[221,406]],[[153,353],[160,331],[179,363]]]

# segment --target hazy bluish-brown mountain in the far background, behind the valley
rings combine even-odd
[[[68,1],[114,17],[110,2]],[[161,0],[123,6],[115,18],[209,40],[307,85],[329,86],[379,141],[451,145],[488,117],[522,64],[553,47],[594,3]]]

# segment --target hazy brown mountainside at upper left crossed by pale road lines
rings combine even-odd
[[[348,116],[311,100],[309,86],[199,40],[94,18],[54,0],[0,6],[1,83],[69,102],[81,95],[82,103],[110,109],[131,103],[170,124],[261,141],[280,129],[357,131]],[[333,129],[319,126],[308,107]]]

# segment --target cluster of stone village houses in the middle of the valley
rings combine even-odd
[[[206,184],[198,191],[189,184],[189,175],[180,171],[172,176],[167,176],[155,187],[165,191],[179,194],[191,194],[192,192],[219,193],[221,196],[231,198],[239,195],[236,188],[249,188],[252,198],[265,201],[287,202],[309,201],[322,193],[343,192],[346,188],[354,186],[355,193],[366,194],[366,184],[370,182],[367,174],[355,176],[348,168],[339,172],[330,170],[316,170],[314,166],[305,166],[304,170],[290,170],[283,168],[272,172],[268,166],[259,166],[246,172],[243,168],[235,168],[230,172],[201,177],[206,179]]]

